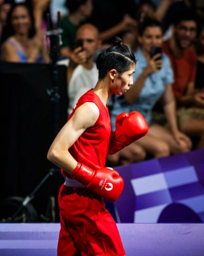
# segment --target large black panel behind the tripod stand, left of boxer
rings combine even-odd
[[[66,66],[58,65],[57,73],[56,113],[50,95],[53,87],[50,64],[0,63],[0,199],[26,197],[52,168],[47,151],[57,132],[56,122],[61,128],[67,120],[68,106]],[[57,200],[63,182],[59,172],[36,192],[32,204],[39,214],[46,212],[51,195]]]

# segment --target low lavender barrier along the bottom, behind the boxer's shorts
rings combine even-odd
[[[117,227],[126,256],[204,256],[204,224]],[[0,256],[56,256],[59,223],[0,224]]]

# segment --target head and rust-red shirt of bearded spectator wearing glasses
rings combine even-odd
[[[172,25],[173,35],[163,43],[163,51],[170,57],[174,70],[175,96],[181,97],[195,81],[196,53],[191,46],[197,36],[197,20],[194,13],[187,10],[176,15]]]

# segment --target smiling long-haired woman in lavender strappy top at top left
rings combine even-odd
[[[5,29],[8,37],[2,45],[3,61],[49,63],[43,34],[36,33],[33,13],[25,3],[11,7]]]

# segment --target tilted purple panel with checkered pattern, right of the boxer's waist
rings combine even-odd
[[[204,222],[204,148],[119,166],[121,222]]]

